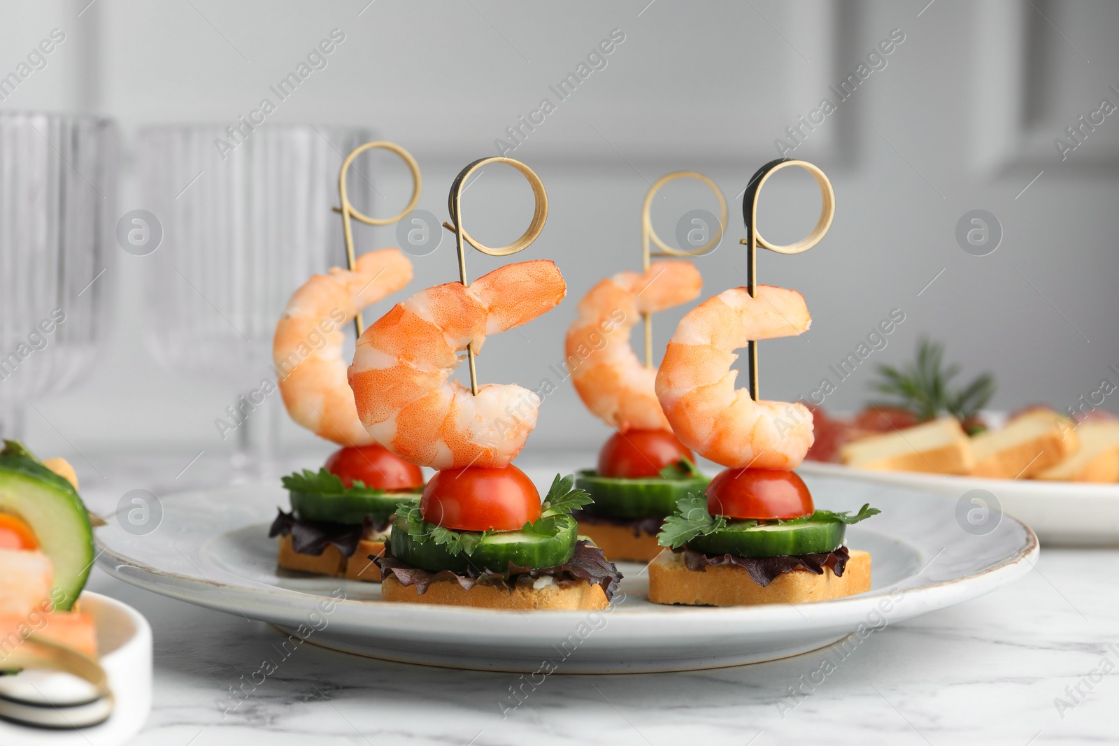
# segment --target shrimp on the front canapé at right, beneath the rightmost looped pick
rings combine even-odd
[[[742,469],[796,469],[812,445],[812,415],[801,404],[754,402],[734,388],[732,350],[750,340],[793,337],[811,318],[803,296],[759,285],[733,287],[685,315],[657,372],[657,398],[684,445]]]

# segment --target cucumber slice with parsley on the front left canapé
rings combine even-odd
[[[555,536],[537,536],[525,531],[498,531],[482,538],[469,557],[464,553],[451,555],[446,547],[432,540],[417,540],[407,532],[407,526],[397,526],[389,540],[393,556],[402,563],[432,573],[467,569],[488,569],[504,573],[509,563],[520,567],[556,567],[571,559],[575,553],[576,525],[571,516],[556,518]]]

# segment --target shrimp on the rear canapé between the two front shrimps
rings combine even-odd
[[[694,264],[655,262],[643,274],[606,277],[579,302],[565,346],[571,379],[583,404],[608,425],[671,431],[653,387],[657,371],[633,353],[630,330],[641,313],[686,303],[702,285]]]

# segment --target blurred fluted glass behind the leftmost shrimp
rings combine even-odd
[[[142,196],[162,233],[145,277],[145,341],[168,370],[231,386],[225,410],[208,416],[215,445],[235,438],[241,475],[269,473],[278,456],[283,404],[273,331],[311,274],[345,266],[341,220],[331,210],[338,171],[369,139],[359,128],[271,123],[140,132]],[[368,199],[366,178],[351,189]]]

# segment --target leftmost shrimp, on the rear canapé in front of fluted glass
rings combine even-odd
[[[292,293],[272,341],[288,413],[316,435],[339,445],[372,445],[346,381],[342,331],[358,311],[412,280],[412,263],[398,248],[358,257],[355,270],[331,267]]]

